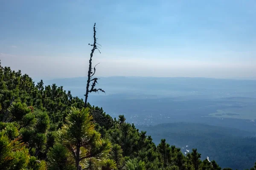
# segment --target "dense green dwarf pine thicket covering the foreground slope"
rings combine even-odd
[[[156,146],[123,115],[83,107],[62,86],[0,66],[0,169],[221,170],[197,149],[184,155],[165,139]]]

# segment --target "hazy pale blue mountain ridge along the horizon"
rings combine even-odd
[[[208,95],[209,97],[255,97],[256,80],[190,78],[190,77],[98,77],[99,88],[109,94],[148,94],[158,96]],[[85,77],[51,79],[46,85],[64,86],[83,96]],[[104,94],[105,95],[105,94]]]

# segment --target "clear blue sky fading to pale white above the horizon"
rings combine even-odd
[[[256,79],[255,0],[0,0],[0,60],[36,79]]]

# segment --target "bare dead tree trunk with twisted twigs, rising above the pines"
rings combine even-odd
[[[97,43],[97,38],[96,38],[96,23],[94,23],[94,26],[93,26],[93,44],[89,44],[90,46],[92,46],[93,47],[93,49],[92,49],[92,51],[91,51],[91,54],[90,54],[90,60],[89,60],[89,69],[88,69],[88,78],[87,78],[87,85],[86,85],[86,93],[85,93],[85,101],[84,101],[84,108],[86,108],[87,107],[87,99],[88,99],[88,94],[89,93],[91,93],[91,92],[98,92],[99,93],[99,91],[102,91],[102,92],[104,92],[105,93],[105,91],[104,90],[102,90],[101,88],[95,88],[95,86],[96,86],[96,83],[98,84],[98,82],[97,82],[97,80],[98,80],[98,78],[93,78],[92,79],[92,77],[93,77],[93,75],[95,74],[95,72],[96,72],[96,65],[98,65],[98,64],[96,64],[95,66],[94,66],[94,68],[92,69],[92,59],[93,59],[93,54],[94,54],[94,51],[97,49],[98,51],[99,51],[99,46],[98,45],[100,45],[100,44],[98,44]],[[101,45],[100,45],[101,46]],[[99,51],[99,53],[101,53],[100,51]],[[91,85],[91,88],[89,88],[89,86],[90,86],[90,82],[92,82],[92,85]]]

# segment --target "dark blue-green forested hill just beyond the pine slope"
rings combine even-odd
[[[185,122],[138,128],[148,131],[156,144],[164,136],[166,142],[181,147],[183,153],[195,147],[202,158],[208,156],[223,167],[241,170],[256,160],[255,135],[244,130]]]

